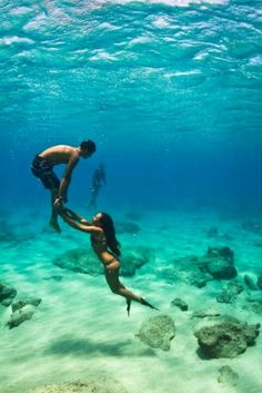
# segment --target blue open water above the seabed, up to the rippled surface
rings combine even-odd
[[[84,138],[98,151],[72,203],[102,159],[115,206],[261,206],[261,12],[256,0],[1,0],[2,206],[38,205],[34,154]]]

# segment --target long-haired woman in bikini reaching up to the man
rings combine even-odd
[[[107,213],[98,213],[92,222],[75,214],[71,209],[63,208],[59,212],[66,223],[73,228],[87,232],[91,235],[91,245],[98,258],[104,266],[104,276],[110,289],[127,299],[127,311],[130,313],[131,301],[144,306],[158,310],[148,303],[143,297],[137,296],[119,281],[120,269],[120,244],[115,238],[115,230],[112,218]]]

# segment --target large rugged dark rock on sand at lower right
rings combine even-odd
[[[209,357],[235,357],[255,343],[260,324],[228,318],[213,326],[201,327],[194,333],[203,354]]]

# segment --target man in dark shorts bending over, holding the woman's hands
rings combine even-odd
[[[71,181],[73,168],[77,166],[80,157],[89,158],[95,151],[97,147],[92,140],[83,140],[80,146],[57,145],[51,146],[42,153],[38,154],[32,161],[32,173],[51,190],[52,214],[50,225],[61,232],[58,224],[58,213],[56,206],[68,202],[68,188]],[[64,164],[64,174],[59,180],[53,171],[56,165]]]

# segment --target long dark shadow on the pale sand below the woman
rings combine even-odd
[[[90,341],[88,338],[60,338],[46,348],[44,355],[78,355],[78,356],[155,356],[152,348],[141,348],[131,340],[108,343],[107,341]]]

